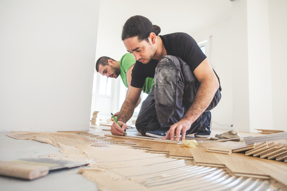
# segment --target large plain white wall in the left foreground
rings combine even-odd
[[[88,130],[99,0],[0,1],[0,131]]]

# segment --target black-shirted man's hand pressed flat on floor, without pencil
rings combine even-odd
[[[179,140],[179,136],[181,133],[181,140],[183,141],[185,139],[185,133],[188,129],[190,129],[191,123],[187,121],[186,119],[181,119],[179,122],[174,123],[172,126],[170,126],[170,129],[168,130],[167,134],[162,139],[170,139],[174,140],[174,134],[176,134],[175,141]]]

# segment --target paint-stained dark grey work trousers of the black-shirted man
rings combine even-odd
[[[176,56],[162,57],[156,66],[154,87],[143,101],[135,126],[146,135],[147,131],[154,131],[160,127],[169,129],[171,125],[180,121],[195,99],[200,86],[188,64]],[[207,115],[221,98],[220,89],[208,108],[203,112],[186,134],[206,130]]]

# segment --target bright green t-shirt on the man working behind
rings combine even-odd
[[[133,56],[133,54],[127,53],[122,56],[120,60],[120,69],[121,69],[120,76],[126,87],[128,87],[127,71],[133,64],[135,64],[135,57]],[[144,83],[143,87],[143,92],[148,94],[153,86],[154,86],[154,78],[146,78],[146,82]]]

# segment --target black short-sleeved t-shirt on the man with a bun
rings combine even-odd
[[[167,55],[177,56],[185,61],[192,71],[206,58],[195,40],[186,33],[172,33],[160,35]],[[151,60],[147,64],[135,62],[131,73],[131,86],[144,87],[147,77],[154,78],[158,60]]]

